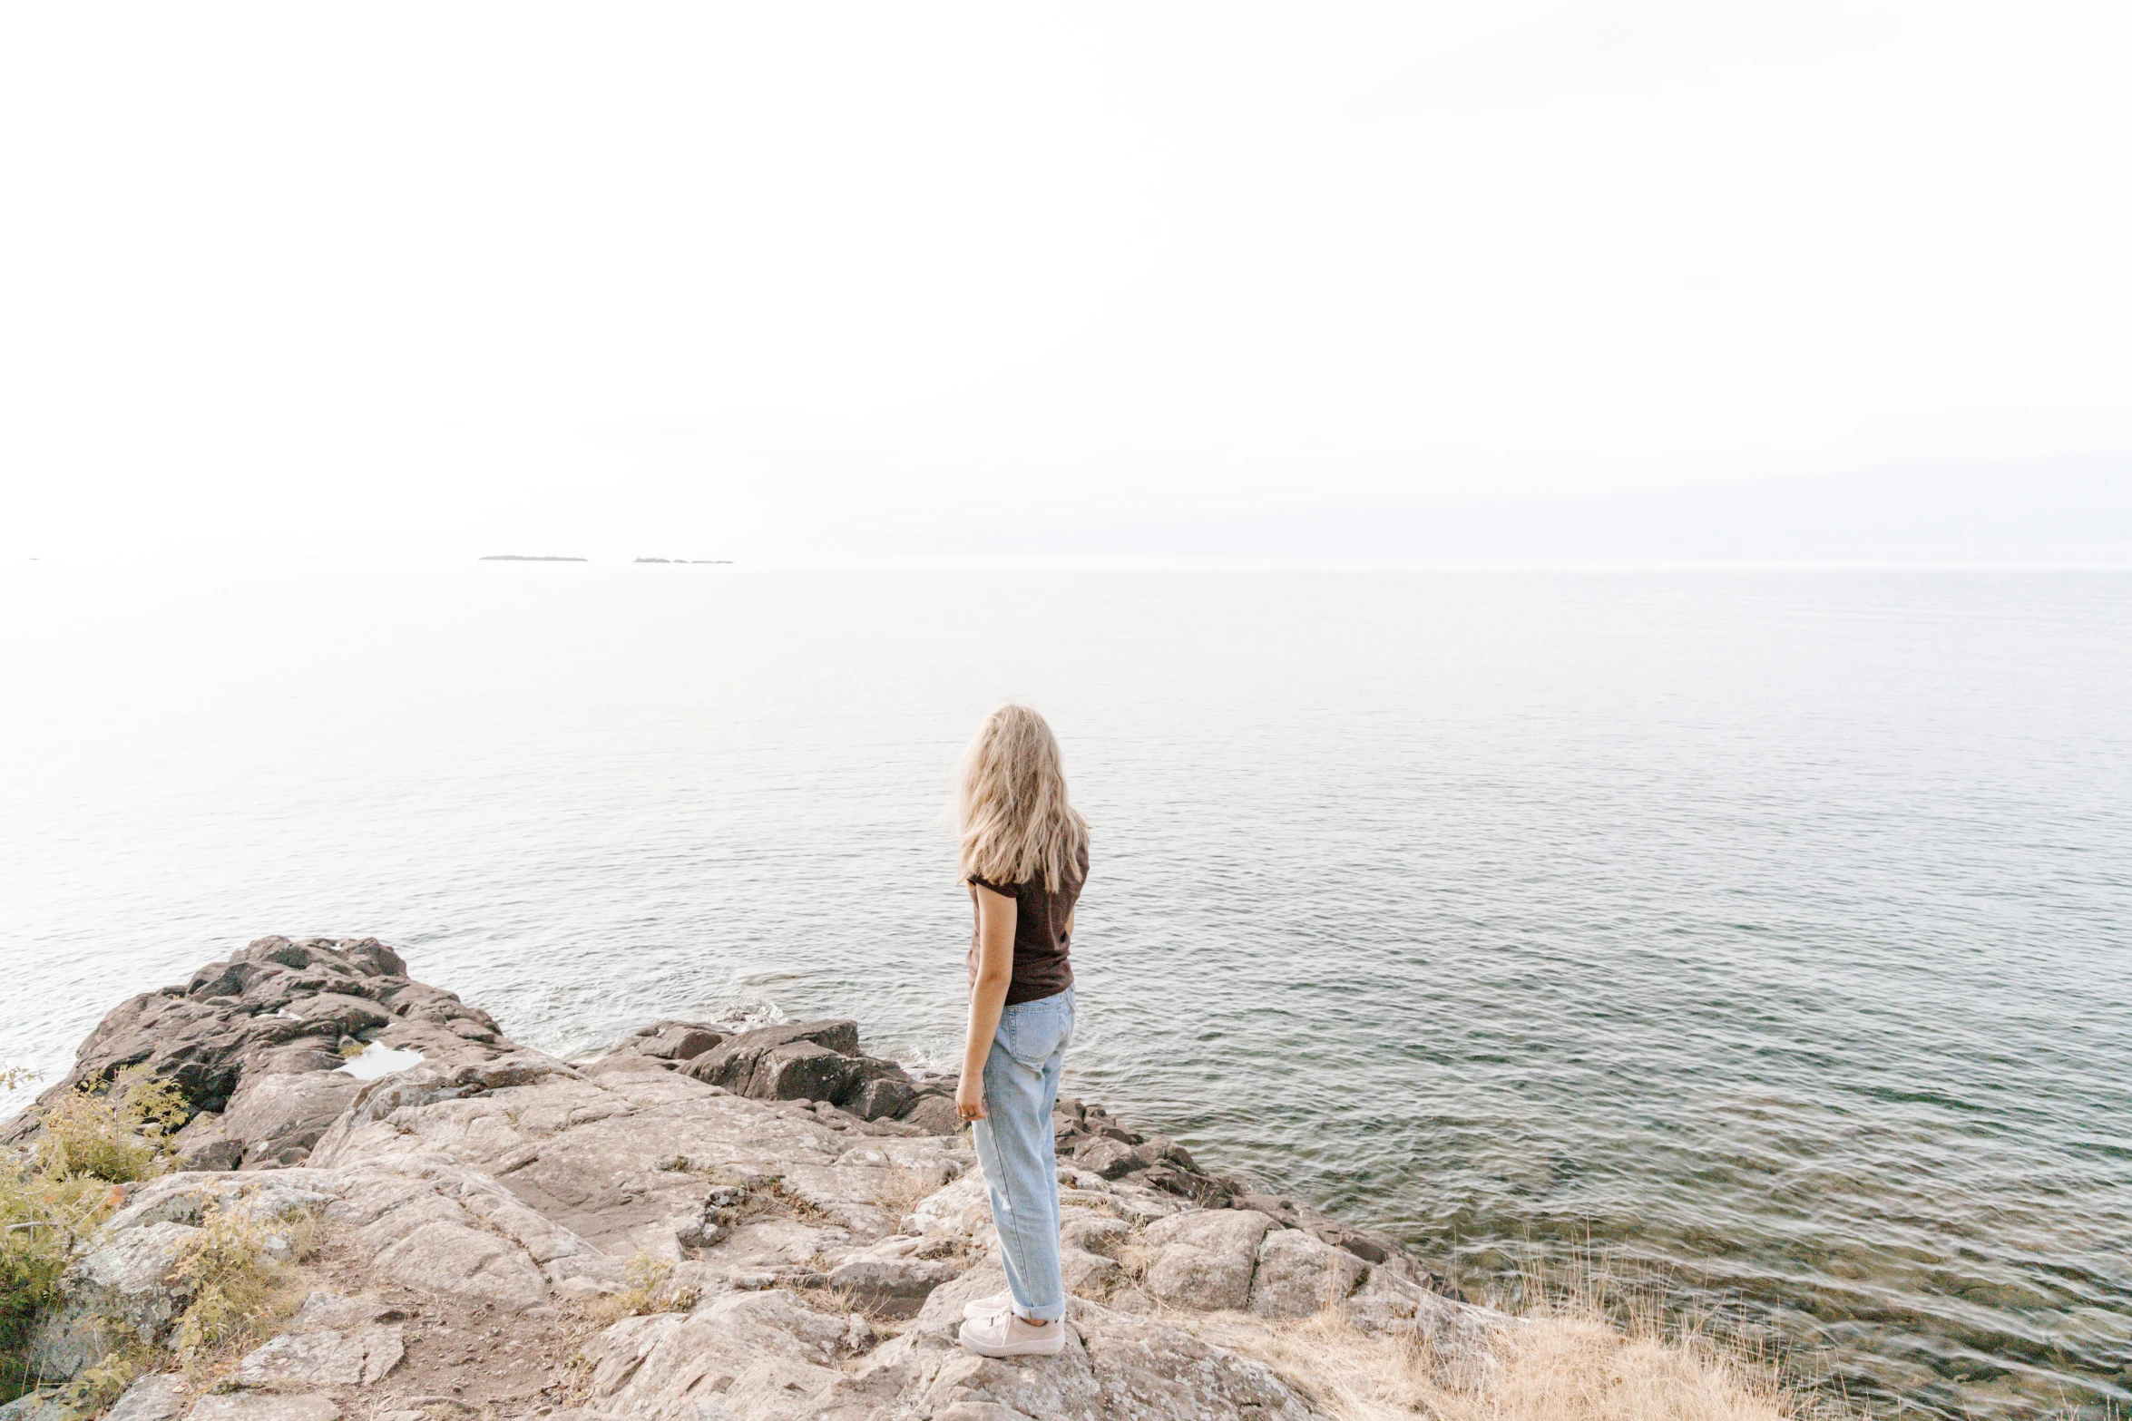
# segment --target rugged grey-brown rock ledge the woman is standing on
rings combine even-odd
[[[333,1069],[371,1042],[422,1061]],[[849,1020],[661,1020],[559,1061],[377,940],[264,937],[119,1006],[62,1089],[128,1065],[185,1093],[192,1167],[128,1187],[38,1323],[43,1376],[166,1336],[171,1259],[211,1210],[307,1221],[341,1272],[211,1385],[143,1376],[115,1421],[1303,1421],[1328,1412],[1192,1317],[1330,1310],[1458,1387],[1514,1325],[1390,1238],[1062,1101],[1068,1346],[974,1357],[962,1308],[1004,1287],[976,1157],[947,1084],[868,1057]],[[47,1412],[30,1393],[0,1421]]]

